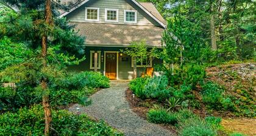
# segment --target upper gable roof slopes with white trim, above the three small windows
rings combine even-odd
[[[88,2],[90,0],[64,0],[64,1],[65,2],[73,1],[74,6],[68,12],[61,13],[59,18],[62,18],[63,16],[68,15],[69,13],[73,12],[74,10],[79,8],[81,5],[84,5],[86,2]],[[137,2],[136,0],[130,0],[130,1],[132,1],[133,3],[138,5],[138,7],[140,7],[140,9],[142,9],[149,16],[151,16],[151,18],[153,18],[155,21],[157,21],[158,24],[160,24],[163,28],[166,27],[165,19],[163,19],[162,15],[160,15],[160,13],[157,11],[157,9],[155,9],[155,6],[151,2]]]

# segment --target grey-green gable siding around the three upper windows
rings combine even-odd
[[[154,19],[144,13],[137,5],[126,0],[96,0],[89,1],[78,9],[66,15],[71,22],[90,22],[85,21],[85,7],[99,8],[99,22],[111,24],[129,24],[124,22],[124,10],[137,10],[137,25],[159,25]],[[105,22],[105,9],[119,9],[118,22]],[[97,23],[97,22],[96,22]],[[133,24],[136,25],[136,24]]]

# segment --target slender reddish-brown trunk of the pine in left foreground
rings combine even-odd
[[[45,7],[45,22],[46,22],[46,24],[50,24],[51,16],[52,16],[51,0],[46,0],[46,7]],[[44,34],[43,38],[42,38],[42,49],[41,49],[41,56],[43,58],[43,67],[47,67],[47,64],[46,64],[47,39],[48,39],[47,34]],[[41,80],[41,87],[43,89],[43,98],[42,99],[43,99],[44,120],[45,120],[44,135],[49,136],[52,117],[51,117],[51,109],[50,109],[50,104],[49,104],[49,95],[46,92],[48,89],[46,81],[47,80],[45,78],[43,78]]]

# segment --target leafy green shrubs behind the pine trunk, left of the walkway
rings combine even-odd
[[[30,79],[30,78],[29,78]],[[24,79],[23,79],[24,80]],[[0,87],[0,109],[15,111],[23,106],[41,102],[40,86],[20,82],[16,90]],[[67,106],[71,103],[90,104],[88,96],[96,90],[93,88],[109,87],[109,80],[100,73],[82,72],[59,75],[49,84],[49,98],[52,107]]]

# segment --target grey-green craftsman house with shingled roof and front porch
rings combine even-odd
[[[71,69],[98,70],[111,80],[133,78],[133,58],[120,49],[126,49],[132,42],[146,40],[150,47],[161,47],[165,19],[151,2],[136,0],[84,0],[76,7],[64,12],[66,18],[77,24],[80,35],[85,36],[86,60]],[[149,58],[147,67],[154,67],[162,61]],[[143,65],[137,63],[137,75]],[[97,69],[94,69],[94,66]],[[154,72],[157,74],[157,72]]]

